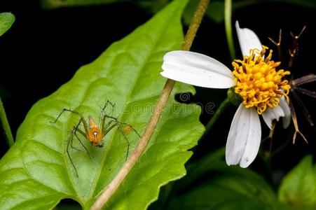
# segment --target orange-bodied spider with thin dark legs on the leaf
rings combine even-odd
[[[57,116],[57,118],[55,119],[55,121],[51,122],[51,123],[57,123],[57,120],[60,118],[60,116],[62,116],[62,113],[64,113],[65,111],[68,111],[70,113],[74,113],[77,116],[80,117],[80,120],[78,121],[78,123],[76,124],[76,126],[74,126],[69,134],[69,138],[67,141],[67,155],[69,157],[69,160],[71,162],[72,167],[74,167],[74,170],[76,172],[76,175],[78,176],[78,172],[77,169],[74,165],[74,162],[71,159],[71,155],[69,153],[69,146],[71,146],[71,148],[76,149],[77,151],[80,151],[78,148],[74,147],[73,144],[73,140],[74,140],[74,136],[76,137],[76,139],[78,139],[78,141],[80,142],[81,146],[83,146],[83,148],[85,149],[85,151],[88,153],[89,158],[91,158],[90,153],[88,151],[88,149],[83,145],[82,141],[79,139],[78,137],[78,133],[81,134],[85,139],[87,139],[88,141],[90,141],[90,143],[92,144],[92,146],[96,146],[99,148],[102,148],[104,146],[104,142],[103,142],[103,138],[112,130],[114,129],[114,127],[118,128],[118,131],[121,132],[121,134],[123,135],[123,138],[125,139],[127,146],[128,146],[128,151],[126,152],[126,160],[128,158],[128,153],[130,150],[130,142],[128,141],[128,138],[125,136],[125,134],[127,134],[128,132],[134,131],[138,137],[140,137],[139,133],[137,132],[137,130],[135,130],[132,125],[128,124],[128,123],[122,123],[120,121],[118,121],[118,118],[114,118],[113,116],[109,116],[105,113],[105,109],[107,108],[108,105],[111,105],[111,113],[113,113],[114,110],[114,106],[115,104],[112,104],[109,100],[107,100],[107,102],[105,102],[104,106],[101,109],[101,113],[99,116],[99,125],[97,125],[97,123],[95,123],[94,118],[92,118],[92,116],[88,116],[88,120],[86,120],[83,117],[83,114],[78,112],[78,111],[74,111],[71,109],[62,109],[62,111],[60,112],[60,114]],[[83,125],[83,130],[81,130],[79,128],[79,126]],[[123,130],[121,125],[125,125],[125,129]]]

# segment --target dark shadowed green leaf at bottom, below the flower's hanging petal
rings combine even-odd
[[[168,209],[287,209],[259,174],[228,167],[223,158],[221,149],[189,165],[187,176],[176,182],[180,188]]]

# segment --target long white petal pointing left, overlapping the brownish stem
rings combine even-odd
[[[190,85],[211,88],[235,85],[231,70],[216,59],[197,52],[167,52],[163,57],[162,68],[162,76]]]

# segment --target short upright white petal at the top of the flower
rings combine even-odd
[[[251,29],[241,29],[239,27],[238,21],[235,23],[236,27],[236,32],[237,32],[237,37],[238,41],[240,44],[240,49],[242,50],[242,55],[249,55],[249,50],[250,49],[258,49],[262,50],[262,45],[261,42]]]

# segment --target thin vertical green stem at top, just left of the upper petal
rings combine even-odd
[[[231,59],[235,59],[235,48],[233,41],[233,27],[231,26],[231,0],[225,0],[224,6],[224,20],[225,20],[225,30],[226,30],[226,38],[228,43],[228,49],[231,54]]]

